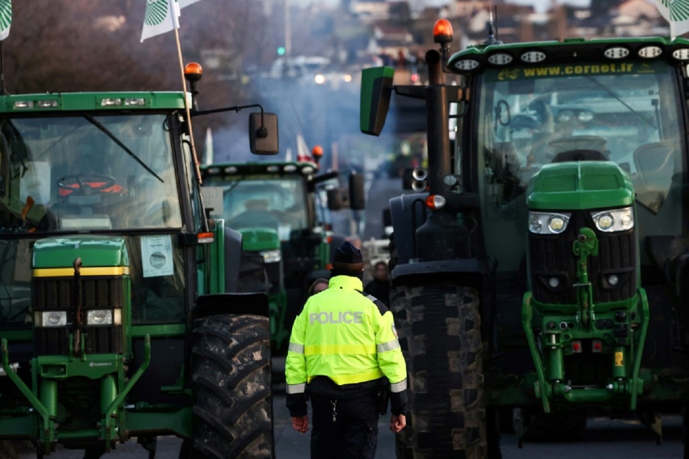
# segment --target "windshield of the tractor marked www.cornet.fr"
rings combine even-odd
[[[482,180],[499,205],[542,165],[584,159],[617,163],[657,214],[681,173],[679,94],[666,63],[491,69],[480,94]]]

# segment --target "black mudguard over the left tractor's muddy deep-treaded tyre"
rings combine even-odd
[[[263,292],[243,294],[212,294],[196,298],[189,312],[189,323],[198,318],[220,314],[254,314],[268,316],[268,295]]]

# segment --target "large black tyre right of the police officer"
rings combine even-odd
[[[478,303],[474,289],[453,283],[391,290],[411,411],[398,458],[486,457]]]

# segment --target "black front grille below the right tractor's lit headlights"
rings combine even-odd
[[[573,212],[566,230],[561,234],[544,235],[529,232],[531,278],[535,300],[551,304],[576,304],[573,284],[577,283],[577,259],[573,243],[579,229],[589,227],[598,238],[598,255],[588,258],[588,281],[593,285],[594,303],[632,298],[637,290],[635,273],[636,231],[605,233],[598,231],[590,211]],[[615,274],[617,285],[608,285]],[[560,281],[557,288],[548,285],[550,278]]]

